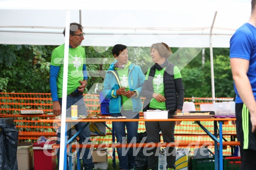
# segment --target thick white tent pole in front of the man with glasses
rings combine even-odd
[[[62,90],[62,108],[67,106],[67,88],[68,88],[68,66],[69,66],[69,28],[70,28],[70,10],[66,13],[66,26],[65,26],[65,47],[64,47],[64,71],[63,71],[63,90]],[[66,96],[66,97],[65,97]],[[66,109],[61,109],[61,127],[66,127]],[[61,128],[61,145],[60,145],[60,162],[59,170],[66,170],[66,165],[64,166],[64,157],[67,155],[65,153],[66,148],[66,138],[65,132],[67,129]],[[65,168],[64,168],[64,167]]]

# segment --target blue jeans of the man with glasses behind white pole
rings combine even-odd
[[[62,106],[62,98],[59,99],[59,102]],[[67,96],[67,110],[66,110],[66,117],[71,117],[71,105],[77,105],[77,116],[81,115],[87,115],[87,109],[85,106],[85,103],[83,101],[83,95],[80,96]],[[79,131],[84,125],[86,124],[86,122],[78,122],[74,125],[76,131]],[[61,132],[61,128],[58,128],[58,132]],[[58,138],[61,137],[61,133],[58,133]],[[83,131],[81,131],[81,133],[78,135],[79,137],[79,143],[82,144],[82,142],[89,142],[90,143],[90,129],[89,129],[89,125],[87,127],[84,128]],[[57,144],[60,144],[60,141],[57,140],[56,142]],[[80,149],[81,151],[82,149]],[[83,150],[82,150],[83,151]],[[91,154],[89,155],[90,158],[88,157],[88,154],[90,152],[89,148],[85,149],[84,155],[83,155],[83,167],[84,170],[92,170],[94,168],[94,163],[92,162],[92,157]],[[81,154],[83,154],[83,152],[81,152]],[[68,157],[68,156],[67,156]],[[58,159],[58,163],[59,163],[59,158],[60,158],[60,149],[58,149],[57,152],[57,159]],[[69,170],[69,166],[68,166],[68,160],[67,160],[67,170]]]

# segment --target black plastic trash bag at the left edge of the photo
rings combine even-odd
[[[12,118],[0,118],[0,170],[18,170],[18,130]]]

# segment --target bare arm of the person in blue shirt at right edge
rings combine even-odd
[[[247,76],[249,60],[231,58],[231,71],[238,94],[245,103],[251,116],[252,132],[256,130],[256,101],[252,93],[252,86]]]

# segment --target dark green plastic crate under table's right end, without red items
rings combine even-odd
[[[192,158],[192,170],[215,170],[214,157],[202,159]]]

